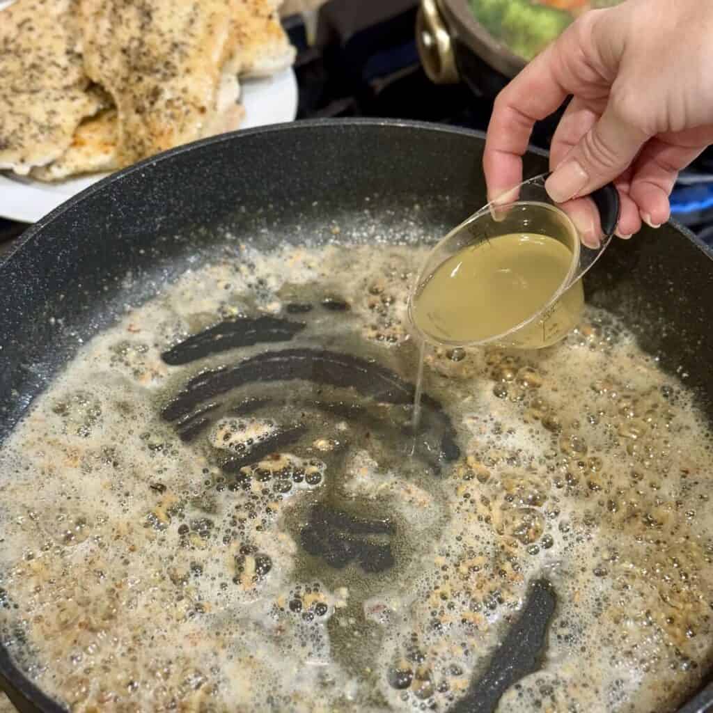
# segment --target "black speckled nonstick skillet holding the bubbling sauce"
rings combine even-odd
[[[364,234],[425,226],[435,240],[485,202],[482,150],[483,135],[436,125],[304,122],[178,148],[69,200],[0,262],[0,443],[83,341],[189,260],[215,257],[226,230],[266,249],[302,235],[329,240],[335,222]],[[525,157],[526,174],[546,168],[542,153]],[[713,263],[692,235],[665,225],[617,241],[585,287],[590,302],[625,319],[663,369],[687,371],[713,416]],[[509,685],[538,667],[555,606],[549,585],[535,583],[459,712],[492,711]],[[713,710],[708,680],[700,679],[681,713]],[[61,710],[1,646],[0,686],[22,711]]]

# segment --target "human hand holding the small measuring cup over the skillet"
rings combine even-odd
[[[555,202],[613,181],[617,235],[670,215],[679,170],[713,143],[713,3],[627,0],[575,21],[503,89],[483,168],[493,200],[522,180],[536,120],[573,96],[552,141]]]

